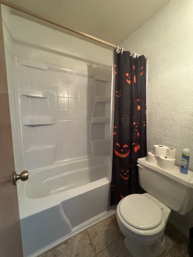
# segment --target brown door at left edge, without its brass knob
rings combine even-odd
[[[14,155],[0,4],[0,256],[22,257],[17,186],[13,184]],[[20,171],[17,171],[20,173]]]

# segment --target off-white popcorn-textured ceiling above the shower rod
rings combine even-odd
[[[74,29],[118,45],[171,0],[9,0]],[[12,10],[13,14],[23,16]],[[42,22],[42,24],[45,24]],[[54,26],[50,26],[56,29]],[[74,35],[74,33],[68,33]],[[76,36],[76,35],[74,35]],[[81,36],[78,36],[82,38]],[[90,41],[90,40],[88,40]],[[90,41],[91,42],[91,41]]]

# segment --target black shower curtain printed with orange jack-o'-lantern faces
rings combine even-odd
[[[145,57],[114,51],[114,60],[111,206],[129,194],[144,193],[139,185],[137,159],[147,156]]]

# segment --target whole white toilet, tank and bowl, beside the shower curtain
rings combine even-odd
[[[164,230],[171,209],[181,215],[193,208],[193,172],[180,173],[138,159],[140,186],[147,191],[123,198],[117,206],[117,221],[125,245],[133,257],[157,257],[166,239]]]

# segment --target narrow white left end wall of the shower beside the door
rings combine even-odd
[[[17,122],[19,119],[18,99],[17,99],[17,78],[16,78],[16,62],[15,62],[15,46],[13,42],[12,20],[8,7],[2,5],[2,20],[3,20],[3,34],[5,42],[5,59],[8,78],[8,92],[9,92],[9,108],[11,116],[11,132],[13,140],[14,164],[15,170],[25,170],[22,143],[21,143],[21,130],[20,124]],[[17,182],[18,196],[21,191],[21,180]]]

